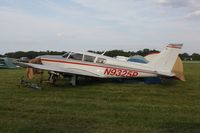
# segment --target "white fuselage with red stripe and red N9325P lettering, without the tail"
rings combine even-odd
[[[41,56],[44,65],[57,67],[61,70],[71,71],[72,74],[100,77],[100,78],[135,78],[135,77],[156,77],[157,74],[148,64],[121,61],[115,58],[82,52],[82,59],[74,60],[62,56]],[[73,53],[74,54],[74,53]],[[85,61],[86,56],[94,57],[93,61]],[[99,60],[103,61],[100,62]]]

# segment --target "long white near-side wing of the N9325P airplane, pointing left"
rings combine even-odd
[[[81,69],[75,69],[75,68],[63,69],[63,68],[49,66],[49,65],[24,63],[24,62],[17,62],[16,64],[21,67],[32,67],[32,68],[37,68],[37,69],[47,70],[47,71],[56,71],[56,72],[61,72],[61,73],[69,73],[69,74],[91,76],[91,77],[102,77],[101,75],[97,75],[92,72],[88,72]]]

